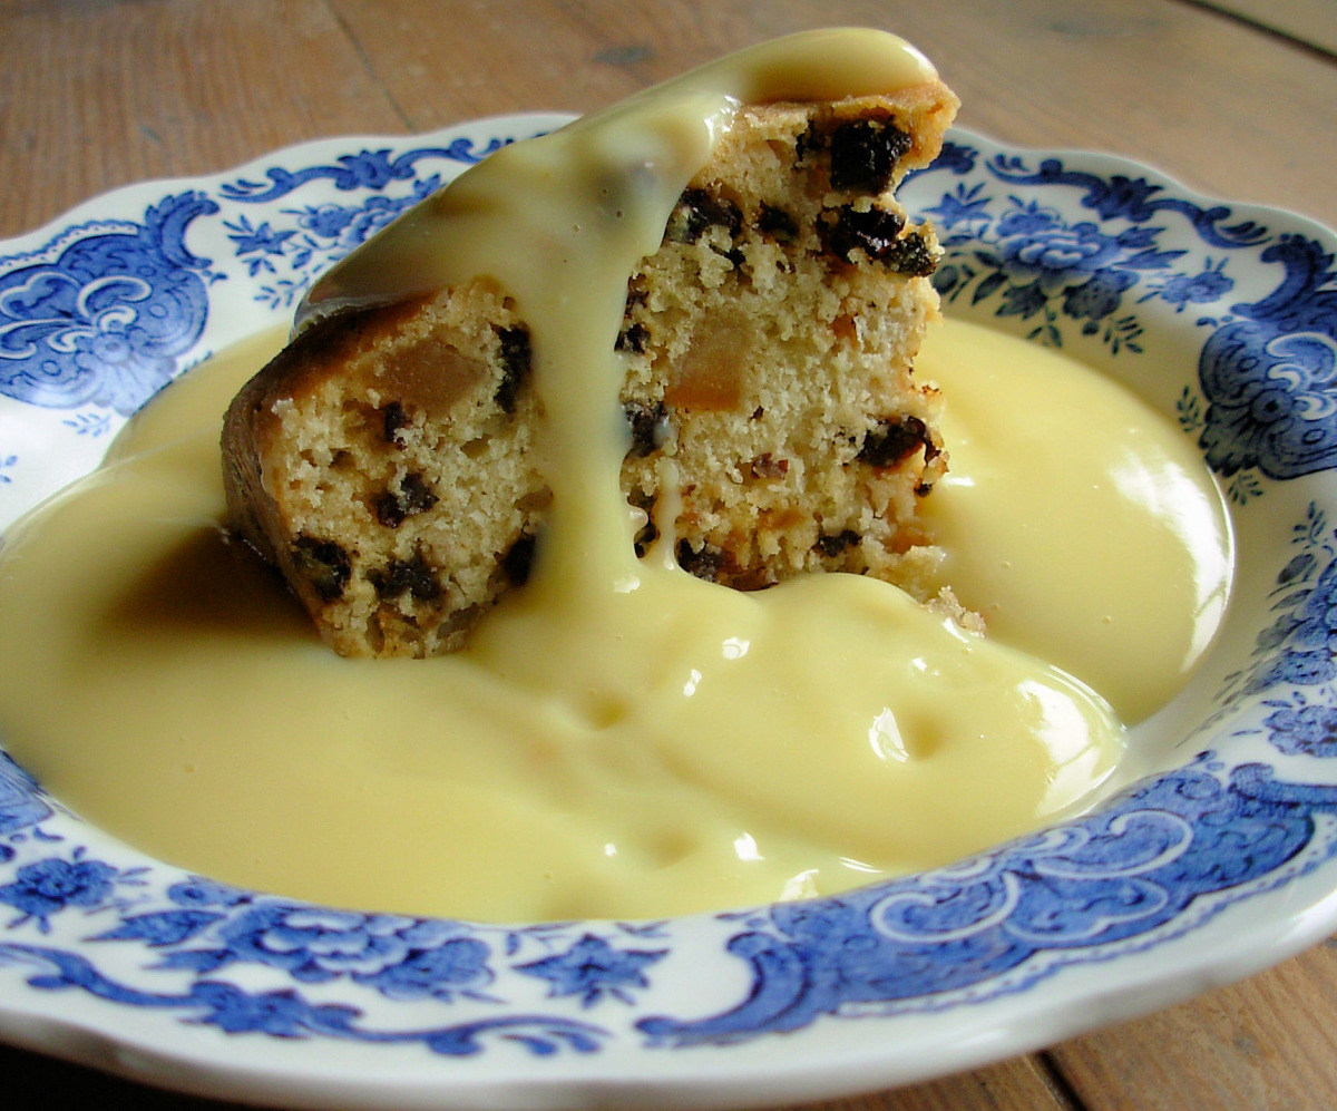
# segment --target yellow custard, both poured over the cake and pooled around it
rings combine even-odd
[[[1104,590],[1099,615],[1150,598],[1135,576],[1108,590],[1103,571],[1083,571],[1063,513],[1036,521],[1058,537],[1039,556],[1005,556],[1017,571],[999,594],[980,572],[987,559],[956,555],[987,513],[1028,512],[1027,461],[993,457],[984,441],[992,422],[1051,406],[1043,390],[999,389],[981,424],[963,405],[961,428],[981,449],[964,452],[964,467],[953,456],[956,481],[993,492],[944,497],[937,519],[956,560],[951,584],[987,616],[997,611],[988,639],[870,579],[813,576],[743,595],[678,570],[668,543],[636,560],[618,489],[612,350],[626,274],[658,246],[734,106],[933,78],[893,36],[779,40],[507,148],[394,225],[321,282],[310,312],[479,274],[515,295],[533,336],[554,491],[529,584],[464,652],[329,652],[223,524],[221,398],[263,361],[261,341],[167,389],[106,468],[5,537],[5,747],[96,825],[194,872],[336,905],[507,921],[829,893],[1090,804],[1115,782],[1123,727],[1102,697],[1043,660],[1110,679],[1110,697],[1139,715],[1191,670],[1219,606],[1199,586],[1154,596],[1177,644],[1178,630],[1193,630],[1170,681],[1154,652],[1132,652],[1114,678],[1087,668],[1110,651],[1087,620],[1074,651],[1052,635],[1067,631],[1063,616],[1029,640],[1017,632],[1027,608],[1052,596],[1046,551],[1062,553],[1074,595]],[[1016,342],[955,324],[945,334],[959,330],[964,348],[944,369]],[[1110,420],[1095,400],[1106,384],[1075,364],[1063,373],[1072,408],[1058,421],[1076,432],[1054,465],[1092,467],[1088,485],[1116,487],[1110,459],[1090,452],[1111,440],[1091,435]],[[1175,439],[1155,414],[1139,420],[1150,440]],[[1182,484],[1157,472],[1157,489],[1214,493],[1201,464],[1185,469]],[[999,511],[999,497],[1013,508]],[[1130,559],[1179,535],[1158,497],[1140,504],[1120,519]],[[1207,517],[1229,553],[1223,513]],[[1201,564],[1211,544],[1181,536],[1179,547]]]

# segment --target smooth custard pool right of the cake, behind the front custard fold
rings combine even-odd
[[[1193,439],[1112,378],[980,325],[935,330],[917,368],[948,397],[952,465],[923,507],[941,582],[992,638],[1076,675],[1123,721],[1150,717],[1230,596],[1230,519]]]

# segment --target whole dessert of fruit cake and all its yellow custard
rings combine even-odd
[[[1118,714],[1210,643],[1229,517],[1080,365],[961,321],[916,356],[935,249],[890,194],[953,103],[893,36],[801,35],[406,213],[250,385],[255,348],[195,369],[7,535],[8,750],[197,874],[500,922],[842,890],[1126,781]],[[312,651],[226,512],[332,643],[433,658]],[[882,582],[939,558],[989,638]]]

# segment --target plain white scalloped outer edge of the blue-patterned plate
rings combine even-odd
[[[469,120],[421,135],[349,135],[302,142],[247,160],[219,174],[136,182],[107,190],[95,198],[82,202],[66,215],[57,217],[33,231],[4,241],[0,250],[4,251],[7,258],[15,254],[25,254],[32,251],[39,242],[52,242],[59,233],[74,227],[76,223],[118,218],[99,215],[99,210],[114,207],[118,202],[123,202],[131,195],[148,191],[158,191],[160,195],[174,189],[217,187],[229,179],[239,178],[251,167],[261,167],[279,159],[290,162],[309,159],[312,155],[318,156],[325,150],[405,146],[409,143],[431,142],[444,136],[457,136],[464,132],[495,134],[516,126],[548,126],[568,118],[567,115],[551,112],[533,112]],[[1066,162],[1074,159],[1098,159],[1110,167],[1131,167],[1134,171],[1171,187],[1177,195],[1183,198],[1205,202],[1206,205],[1227,203],[1231,205],[1237,214],[1254,218],[1262,214],[1266,214],[1269,219],[1281,217],[1284,218],[1281,222],[1286,223],[1290,229],[1298,229],[1314,238],[1330,239],[1333,237],[1332,231],[1304,214],[1289,213],[1255,202],[1217,202],[1215,198],[1190,190],[1158,170],[1119,155],[1082,150],[1017,147],[996,143],[992,139],[964,128],[956,128],[953,135],[981,148],[992,147],[996,151],[1007,151],[1023,158],[1044,155]],[[241,336],[233,336],[231,338],[241,338]],[[3,417],[3,413],[0,413],[0,417]],[[1310,880],[1313,878],[1310,876]],[[1294,893],[1293,884],[1284,886],[1285,890],[1282,893],[1288,897]],[[957,1043],[951,1048],[943,1048],[937,1055],[924,1054],[923,1059],[917,1063],[905,1062],[901,1059],[904,1055],[901,1058],[892,1055],[889,1060],[882,1055],[882,1047],[872,1044],[880,1040],[878,1037],[870,1039],[853,1035],[854,1027],[868,1028],[884,1021],[896,1024],[897,1020],[901,1020],[901,1025],[904,1025],[904,1020],[915,1017],[913,1012],[900,1012],[885,1020],[870,1019],[862,1024],[852,1024],[849,1021],[840,1024],[837,1019],[829,1016],[820,1019],[825,1027],[840,1025],[846,1036],[845,1039],[834,1039],[834,1041],[844,1040],[846,1044],[840,1048],[834,1044],[826,1044],[821,1058],[816,1062],[809,1060],[804,1054],[786,1055],[785,1050],[797,1047],[792,1037],[778,1035],[763,1035],[761,1039],[750,1043],[729,1047],[722,1051],[723,1055],[730,1058],[729,1062],[723,1062],[722,1058],[714,1054],[709,1055],[711,1058],[711,1067],[706,1068],[705,1072],[710,1074],[707,1083],[717,1086],[713,1090],[715,1095],[706,1095],[697,1090],[695,1078],[685,1078],[682,1066],[695,1068],[697,1076],[702,1075],[703,1063],[699,1056],[679,1062],[674,1050],[663,1050],[658,1058],[634,1052],[631,1058],[623,1062],[623,1064],[631,1062],[638,1066],[631,1072],[626,1072],[624,1070],[612,1070],[610,1072],[610,1070],[600,1067],[610,1063],[610,1056],[592,1056],[576,1059],[576,1063],[584,1067],[558,1070],[555,1074],[548,1075],[541,1072],[531,1075],[525,1072],[523,1076],[511,1076],[505,1082],[499,1076],[469,1078],[465,1080],[449,1075],[453,1062],[448,1062],[440,1072],[437,1070],[427,1070],[432,1075],[420,1076],[417,1074],[422,1070],[418,1068],[412,1070],[414,1075],[400,1078],[365,1074],[360,1075],[354,1084],[348,1078],[330,1080],[324,1074],[306,1074],[301,1067],[295,1071],[285,1068],[289,1064],[289,1058],[283,1058],[282,1054],[277,1052],[285,1048],[282,1044],[273,1045],[273,1043],[265,1043],[273,1045],[275,1052],[258,1054],[261,1062],[269,1056],[281,1058],[277,1066],[255,1064],[245,1060],[246,1043],[238,1043],[227,1037],[217,1040],[217,1044],[210,1047],[209,1052],[193,1054],[174,1047],[164,1050],[162,1048],[162,1040],[152,1031],[148,1032],[148,1036],[142,1036],[139,1031],[112,1029],[111,1027],[115,1024],[115,1020],[124,1017],[123,1009],[108,1012],[111,1021],[100,1024],[60,1013],[51,1015],[43,1007],[25,1008],[4,1000],[0,1001],[0,1032],[17,1044],[83,1060],[110,1071],[120,1072],[132,1079],[180,1087],[182,1090],[215,1098],[227,1098],[229,1095],[246,1092],[250,1098],[275,1098],[283,1095],[286,1099],[295,1098],[301,1104],[309,1106],[316,1106],[317,1103],[330,1106],[330,1100],[334,1100],[341,1107],[410,1107],[427,1106],[428,1100],[433,1106],[467,1106],[461,1100],[471,1098],[473,1086],[481,1086],[491,1091],[496,1084],[505,1083],[511,1086],[511,1095],[515,1096],[507,1106],[537,1107],[545,1106],[550,1099],[555,1104],[564,1106],[574,1092],[586,1088],[590,1083],[604,1079],[610,1084],[623,1086],[618,1090],[627,1092],[640,1091],[642,1084],[652,1084],[656,1100],[664,1102],[664,1106],[674,1103],[677,1096],[682,1096],[685,1100],[690,1099],[693,1106],[735,1106],[735,1099],[741,1095],[739,1086],[747,1088],[746,1102],[769,1102],[779,1098],[793,1102],[796,1098],[830,1096],[841,1091],[854,1092],[890,1083],[909,1083],[941,1075],[947,1070],[975,1067],[1001,1056],[1009,1056],[1048,1044],[1055,1036],[1068,1036],[1107,1021],[1111,1017],[1127,1017],[1151,1007],[1165,1005],[1177,999],[1186,997],[1199,991],[1205,979],[1217,981],[1222,975],[1230,979],[1250,975],[1262,967],[1306,948],[1337,924],[1337,889],[1334,889],[1337,888],[1337,880],[1329,881],[1325,886],[1325,896],[1310,897],[1305,906],[1290,916],[1273,913],[1270,917],[1235,924],[1241,935],[1266,945],[1266,955],[1262,957],[1257,952],[1247,955],[1241,952],[1219,952],[1219,947],[1203,947],[1199,952],[1193,945],[1187,947],[1186,956],[1186,947],[1181,939],[1178,944],[1166,943],[1179,951],[1178,956],[1181,960],[1177,963],[1174,971],[1157,971],[1146,961],[1132,963],[1132,968],[1127,969],[1132,973],[1132,977],[1131,981],[1124,984],[1122,996],[1119,993],[1104,996],[1107,1003],[1112,1001],[1115,1004],[1118,1013],[1102,1012],[1095,1007],[1087,1007],[1084,1013],[1080,1015],[1074,1013],[1074,1008],[1082,1009],[1086,1003],[1074,981],[1083,976],[1087,979],[1099,979],[1099,976],[1092,977],[1091,973],[1098,973],[1102,968],[1107,969],[1120,963],[1120,959],[1115,957],[1106,961],[1102,967],[1082,963],[1068,964],[1059,969],[1058,976],[1051,975],[1032,981],[1029,987],[1023,988],[1021,995],[992,996],[989,1001],[979,1005],[959,1007],[953,1012],[952,1024],[969,1028],[973,1039]],[[1267,896],[1255,896],[1253,897],[1253,902],[1257,904],[1259,900],[1266,898]],[[690,917],[714,918],[714,916],[709,914]],[[1214,917],[1219,921],[1221,913],[1215,913]],[[1250,918],[1250,916],[1245,917]],[[1197,936],[1195,932],[1191,933],[1190,940]],[[4,935],[0,935],[0,941],[3,940]],[[1238,949],[1239,947],[1235,948]],[[1128,963],[1122,961],[1124,965]],[[1063,980],[1064,992],[1062,995],[1066,999],[1044,999],[1047,987],[1054,985],[1056,980]],[[1060,993],[1050,992],[1050,995]],[[52,999],[53,996],[40,996],[39,1001],[47,1003]],[[995,1019],[988,1017],[996,1009],[1013,1012],[1012,1021],[1007,1024],[1005,1029],[997,1029]],[[939,1012],[937,1017],[941,1017],[941,1013]],[[1024,1032],[1021,1027],[1025,1027]],[[810,1027],[804,1027],[800,1033],[808,1033],[809,1029]],[[884,1031],[884,1036],[886,1032],[889,1031]],[[821,1040],[826,1043],[833,1041],[830,1037]],[[915,1039],[912,1037],[910,1040],[913,1041]],[[856,1044],[849,1045],[848,1043],[850,1041]],[[250,1044],[255,1043],[251,1041]],[[334,1048],[330,1043],[320,1044]],[[198,1048],[198,1045],[193,1043],[193,1048]],[[126,1050],[130,1051],[128,1055],[124,1052]],[[735,1052],[735,1050],[742,1052]],[[227,1060],[237,1056],[243,1058],[243,1060],[241,1063]],[[767,1058],[771,1058],[771,1060],[766,1060]],[[733,1062],[737,1062],[737,1064]],[[443,1064],[439,1059],[428,1059],[428,1063],[432,1066]],[[647,1064],[652,1064],[654,1067],[644,1068]],[[718,1067],[715,1067],[717,1064]],[[178,1070],[179,1075],[164,1075],[162,1072],[163,1066]],[[836,1078],[852,1067],[858,1070],[861,1079],[842,1087],[837,1083]],[[758,1091],[757,1087],[758,1079],[763,1072],[767,1074],[767,1084],[765,1087],[771,1092],[769,1096]],[[242,1076],[246,1079],[243,1080],[243,1086],[238,1087],[237,1080]],[[804,1080],[805,1076],[808,1080]],[[814,1076],[818,1078],[816,1082],[813,1080]],[[342,1084],[344,1087],[330,1087],[330,1084]],[[352,1102],[348,1102],[349,1099]],[[698,1103],[702,1099],[706,1102]],[[737,1106],[741,1106],[741,1103]]]

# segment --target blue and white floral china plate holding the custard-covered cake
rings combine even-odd
[[[559,122],[310,143],[0,245],[0,527],[406,205]],[[1190,689],[1134,731],[1150,778],[841,897],[507,928],[183,873],[0,754],[0,1036],[329,1108],[789,1104],[1031,1050],[1337,928],[1337,237],[965,132],[902,197],[947,247],[948,313],[1128,382],[1229,495],[1235,600]]]

